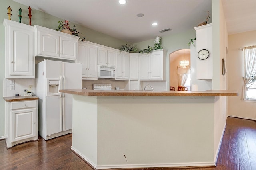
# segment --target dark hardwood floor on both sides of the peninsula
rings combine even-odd
[[[5,141],[1,140],[0,170],[92,170],[71,152],[71,144],[72,134],[48,141],[40,138],[38,141],[23,143],[10,149],[6,149]],[[153,168],[140,168],[142,169]],[[216,168],[185,169],[256,170],[256,123],[228,117]]]

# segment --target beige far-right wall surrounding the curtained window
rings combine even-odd
[[[244,54],[240,48],[256,45],[256,30],[228,36],[228,89],[237,90],[239,96],[228,97],[228,115],[246,119],[256,119],[255,102],[242,100],[244,76]]]

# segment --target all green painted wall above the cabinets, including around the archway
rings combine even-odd
[[[7,16],[7,8],[10,6],[12,8],[12,16],[11,19],[13,21],[18,21],[18,9],[22,8],[22,23],[29,24],[28,18],[28,6],[24,6],[12,0],[0,0],[0,138],[4,136],[4,100],[3,100],[3,79],[4,79],[4,26],[3,21],[4,18],[8,19]],[[44,12],[32,9],[32,25],[40,25],[43,27],[47,27],[50,29],[56,29],[58,27],[58,21],[63,20],[64,18],[57,18],[55,16],[46,14]],[[76,25],[77,29],[84,34],[87,41],[94,42],[101,45],[106,45],[108,47],[119,49],[121,45],[124,45],[128,42],[116,39],[109,35],[105,35],[103,33],[94,31],[92,29],[88,29],[82,27],[78,24],[71,23],[71,25]],[[196,31],[194,28],[191,28],[191,31],[187,31],[184,33],[169,35],[169,36],[160,36],[162,38],[162,46],[167,50],[167,59],[166,59],[166,77],[169,79],[169,54],[177,51],[179,49],[189,49],[190,47],[187,45],[188,40],[194,38],[196,36]],[[138,47],[138,49],[145,49],[150,45],[154,47],[154,39],[135,43],[134,46]],[[169,81],[168,86],[169,86]]]

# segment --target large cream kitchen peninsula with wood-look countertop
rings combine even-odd
[[[96,91],[73,94],[71,149],[96,169],[214,166],[225,96],[236,91]],[[226,114],[225,114],[226,116]]]

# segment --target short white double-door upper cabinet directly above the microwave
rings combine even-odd
[[[98,65],[116,67],[116,52],[111,49],[98,47]]]

